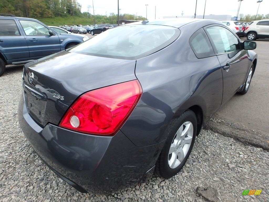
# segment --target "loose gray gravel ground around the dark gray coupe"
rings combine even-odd
[[[108,196],[82,194],[58,178],[30,147],[17,121],[22,66],[0,77],[0,201],[269,201],[269,152],[210,130],[196,139],[177,176],[154,175]],[[262,189],[242,196],[244,189]]]

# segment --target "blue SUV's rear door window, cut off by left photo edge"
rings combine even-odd
[[[14,20],[0,19],[0,36],[20,35],[18,27]]]

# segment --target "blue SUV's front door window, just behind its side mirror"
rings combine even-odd
[[[49,30],[38,22],[30,20],[20,20],[20,24],[27,36],[49,35]]]

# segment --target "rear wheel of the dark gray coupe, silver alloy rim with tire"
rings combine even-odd
[[[183,168],[192,151],[196,131],[197,119],[191,110],[169,123],[167,140],[155,165],[159,176],[168,179]]]

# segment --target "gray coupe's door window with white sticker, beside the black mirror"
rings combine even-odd
[[[241,50],[238,38],[225,27],[211,26],[206,30],[208,37],[213,41],[217,54]]]

